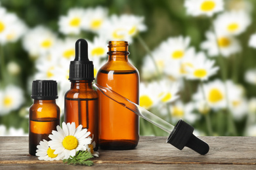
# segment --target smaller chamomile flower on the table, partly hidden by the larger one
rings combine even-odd
[[[39,160],[45,161],[62,160],[58,154],[54,154],[54,151],[55,150],[49,147],[48,141],[43,139],[43,141],[40,141],[39,145],[37,145],[35,156],[39,156]]]

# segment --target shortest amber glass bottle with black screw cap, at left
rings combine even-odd
[[[34,80],[32,84],[33,105],[30,107],[29,152],[35,156],[37,145],[60,125],[60,108],[56,105],[58,98],[57,82],[54,80]]]

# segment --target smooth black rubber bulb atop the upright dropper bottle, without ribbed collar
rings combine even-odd
[[[85,39],[78,39],[75,42],[75,59],[74,61],[89,61],[88,43]]]

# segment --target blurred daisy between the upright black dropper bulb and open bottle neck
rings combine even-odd
[[[108,52],[108,42],[104,37],[95,37],[93,42],[88,42],[89,58],[104,58]]]

